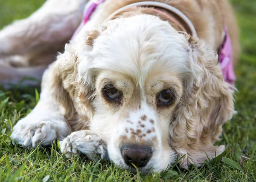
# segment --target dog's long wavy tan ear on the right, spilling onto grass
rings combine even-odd
[[[234,88],[223,80],[218,56],[204,43],[185,36],[191,72],[184,78],[184,94],[170,127],[171,145],[180,157],[186,154],[179,162],[181,168],[202,165],[207,155],[214,158],[224,151],[223,145],[213,144],[221,126],[235,113]]]

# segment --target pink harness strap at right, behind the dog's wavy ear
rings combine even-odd
[[[220,47],[219,62],[221,64],[221,71],[222,71],[224,80],[230,83],[231,85],[234,85],[236,81],[236,75],[233,68],[232,44],[231,44],[230,36],[227,33],[227,27],[224,28],[224,31],[225,31],[225,40]]]

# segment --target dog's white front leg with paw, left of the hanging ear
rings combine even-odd
[[[30,114],[13,127],[11,138],[17,140],[20,145],[36,147],[42,142],[41,145],[47,146],[51,145],[55,139],[62,140],[71,133],[70,125],[63,114],[63,108],[58,102],[58,97],[64,94],[58,93],[57,90],[61,82],[54,69],[55,63],[44,72],[38,104]],[[55,94],[58,97],[55,97]]]

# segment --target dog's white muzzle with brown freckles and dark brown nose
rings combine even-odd
[[[163,148],[163,128],[156,111],[142,103],[141,108],[127,111],[118,118],[111,132],[108,154],[121,168],[137,173],[165,170],[173,155],[172,149]]]

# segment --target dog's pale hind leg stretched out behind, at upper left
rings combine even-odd
[[[30,17],[0,31],[0,57],[58,51],[82,18],[87,0],[47,0]]]

